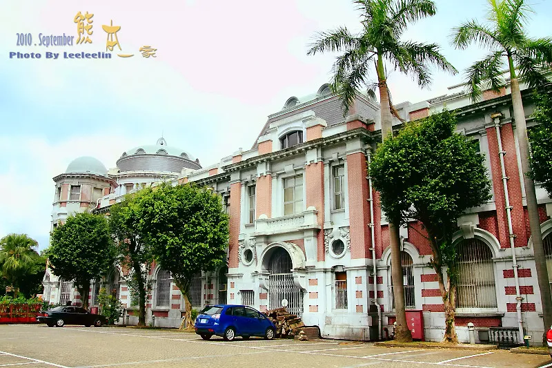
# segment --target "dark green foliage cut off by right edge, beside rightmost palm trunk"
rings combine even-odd
[[[536,95],[533,113],[537,126],[529,130],[531,140],[531,177],[540,182],[552,197],[552,96],[550,91]]]

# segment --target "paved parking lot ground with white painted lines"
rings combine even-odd
[[[0,368],[92,367],[552,367],[509,351],[375,347],[369,343],[252,338],[203,341],[195,333],[122,327],[0,325]]]

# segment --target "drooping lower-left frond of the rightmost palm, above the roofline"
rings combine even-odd
[[[500,92],[500,88],[504,86],[503,66],[504,55],[502,51],[497,51],[466,69],[466,84],[472,101],[475,102],[481,98],[483,88],[491,89],[496,93]],[[490,88],[486,88],[487,86]]]

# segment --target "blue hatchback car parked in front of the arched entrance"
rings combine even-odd
[[[261,336],[272,340],[276,327],[263,313],[246,305],[208,305],[195,320],[195,333],[204,340],[222,336],[232,341],[236,336],[244,339]]]

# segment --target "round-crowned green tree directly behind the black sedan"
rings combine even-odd
[[[90,282],[105,275],[115,262],[108,224],[102,215],[78,213],[52,231],[46,251],[52,271],[63,280],[72,280],[88,308]]]

